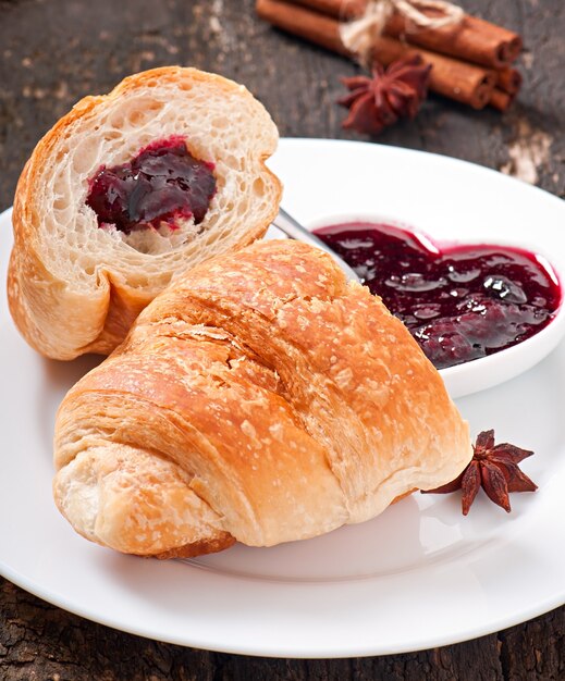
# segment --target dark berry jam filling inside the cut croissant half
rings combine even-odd
[[[125,234],[143,227],[176,228],[180,218],[199,224],[216,193],[213,164],[195,159],[177,135],[153,143],[128,163],[100,168],[86,199],[98,226]]]

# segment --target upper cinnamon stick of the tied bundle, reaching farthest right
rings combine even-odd
[[[363,16],[367,0],[291,0],[340,21]],[[459,24],[419,29],[400,14],[393,14],[384,33],[429,50],[491,69],[503,69],[521,51],[521,38],[513,30],[482,18],[465,15]]]

